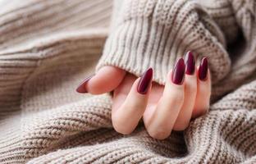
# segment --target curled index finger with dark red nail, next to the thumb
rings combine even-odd
[[[148,104],[152,85],[153,70],[149,68],[144,75],[135,80],[121,107],[112,110],[112,125],[121,134],[130,134],[138,125]]]

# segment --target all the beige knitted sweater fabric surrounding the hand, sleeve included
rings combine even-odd
[[[0,6],[0,163],[256,163],[255,0],[119,0],[112,21],[112,0]],[[97,63],[164,84],[188,50],[208,57],[213,101],[168,139],[117,134],[108,94],[75,93]]]

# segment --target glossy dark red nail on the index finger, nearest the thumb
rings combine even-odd
[[[143,75],[141,75],[139,84],[137,87],[138,93],[146,94],[149,90],[149,84],[152,81],[153,77],[153,69],[149,68],[149,70],[145,71]]]

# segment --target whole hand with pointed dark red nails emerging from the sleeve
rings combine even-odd
[[[208,111],[211,80],[206,58],[198,68],[188,52],[167,75],[165,86],[152,82],[153,70],[137,78],[115,66],[103,66],[77,88],[79,93],[101,94],[113,90],[112,125],[130,134],[143,117],[149,135],[166,139],[171,130],[185,130],[190,119]]]

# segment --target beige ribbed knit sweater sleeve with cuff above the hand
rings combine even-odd
[[[111,65],[139,76],[152,67],[153,80],[165,84],[176,58],[189,50],[198,60],[208,57],[213,84],[231,69],[225,34],[199,2],[117,0],[96,69]]]

